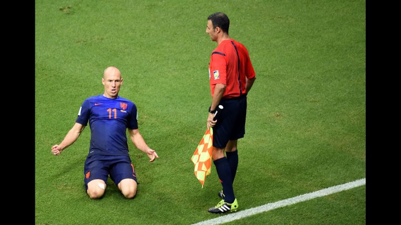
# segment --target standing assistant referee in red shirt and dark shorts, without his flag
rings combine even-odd
[[[228,17],[218,12],[207,20],[206,33],[217,42],[209,63],[212,102],[207,127],[213,127],[212,159],[222,185],[218,192],[222,200],[208,211],[224,213],[238,209],[233,189],[238,166],[237,140],[245,134],[247,94],[256,77],[248,50],[228,36]],[[218,105],[222,105],[224,110],[217,120],[213,120]]]

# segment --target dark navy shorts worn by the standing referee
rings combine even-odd
[[[243,95],[232,99],[221,99],[219,105],[224,108],[213,127],[213,146],[225,148],[228,140],[244,137],[247,97]]]

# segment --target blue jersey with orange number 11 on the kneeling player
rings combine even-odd
[[[126,129],[138,129],[137,108],[128,99],[103,95],[87,98],[78,112],[77,123],[91,131],[89,155],[129,156]]]

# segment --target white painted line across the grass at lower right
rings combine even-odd
[[[308,194],[298,195],[293,198],[287,198],[284,200],[267,203],[267,204],[257,206],[254,208],[245,209],[245,210],[242,210],[239,212],[233,212],[233,213],[223,215],[223,216],[220,216],[217,218],[200,221],[200,222],[194,223],[192,225],[215,225],[215,224],[220,224],[220,223],[224,223],[224,222],[230,222],[230,221],[241,219],[241,218],[251,216],[251,215],[254,215],[257,213],[266,212],[266,211],[269,211],[272,209],[284,207],[287,205],[292,205],[292,204],[302,202],[302,201],[307,201],[307,200],[310,200],[313,198],[326,196],[326,195],[333,194],[333,193],[340,192],[340,191],[345,191],[345,190],[359,187],[359,186],[362,186],[365,184],[366,184],[366,178],[363,178],[363,179],[352,181],[349,183],[328,187],[328,188],[325,188],[325,189],[322,189],[319,191],[315,191],[315,192],[311,192]]]

